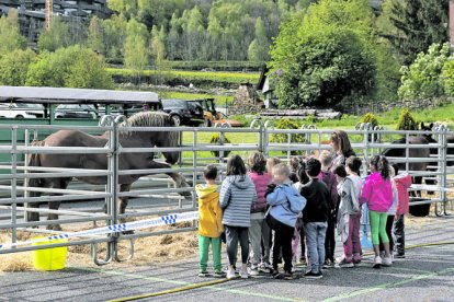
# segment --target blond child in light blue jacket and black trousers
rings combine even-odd
[[[270,206],[266,222],[274,231],[273,270],[274,278],[281,275],[277,270],[277,258],[282,248],[284,258],[284,279],[293,279],[292,274],[292,237],[298,216],[306,206],[306,199],[296,190],[288,179],[290,169],[277,164],[273,167],[273,186],[266,191]]]

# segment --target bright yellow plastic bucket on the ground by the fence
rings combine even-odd
[[[34,237],[41,240],[47,237]],[[56,239],[42,242],[34,242],[32,245],[46,245],[54,243],[66,243],[67,239]],[[33,251],[33,266],[37,270],[58,270],[65,268],[67,246],[52,247],[45,249]]]

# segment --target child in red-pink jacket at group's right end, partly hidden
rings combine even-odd
[[[396,207],[396,217],[394,220],[394,235],[396,236],[396,258],[405,258],[405,224],[404,217],[408,213],[408,188],[411,186],[411,176],[408,174],[400,174],[399,166],[393,164],[396,176],[394,181],[396,182],[397,188],[397,207]]]

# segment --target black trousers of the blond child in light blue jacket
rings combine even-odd
[[[273,242],[273,269],[277,270],[279,256],[282,251],[284,258],[284,270],[292,272],[292,237],[295,228],[288,226],[280,221],[276,221],[274,226],[274,242]]]

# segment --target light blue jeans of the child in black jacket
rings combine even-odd
[[[327,222],[308,222],[304,224],[307,255],[313,272],[319,272],[325,262],[325,236]]]

